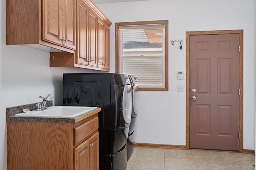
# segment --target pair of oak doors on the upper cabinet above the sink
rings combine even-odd
[[[76,1],[43,0],[43,40],[76,49]]]

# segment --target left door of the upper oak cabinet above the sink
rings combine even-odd
[[[62,0],[42,1],[42,40],[62,45]]]

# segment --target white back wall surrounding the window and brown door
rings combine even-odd
[[[254,149],[255,61],[254,0],[149,0],[96,4],[112,21],[110,64],[115,68],[115,23],[169,20],[169,91],[140,92],[140,112],[133,142],[186,145],[186,95],[177,92],[176,71],[186,70],[186,47],[170,39],[186,40],[186,31],[244,29],[244,149]],[[185,42],[184,42],[185,44]]]

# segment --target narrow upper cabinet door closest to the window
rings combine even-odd
[[[109,70],[109,27],[104,25],[104,68]]]

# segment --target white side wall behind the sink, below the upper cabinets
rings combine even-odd
[[[21,45],[6,45],[5,0],[0,1],[0,170],[6,169],[6,107],[40,102],[52,94],[62,104],[62,76],[99,72],[82,68],[49,67],[49,53]]]

